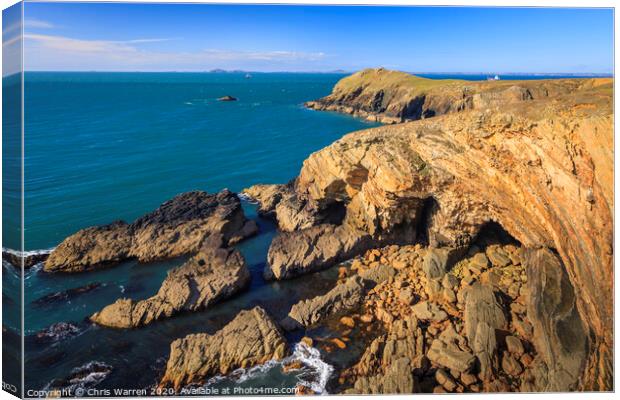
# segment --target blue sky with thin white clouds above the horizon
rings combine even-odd
[[[27,70],[611,73],[611,9],[26,3]]]

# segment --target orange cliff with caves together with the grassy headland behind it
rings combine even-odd
[[[611,79],[427,82],[382,69],[343,79],[308,106],[423,120],[349,134],[312,154],[292,185],[275,188],[280,200],[263,211],[288,229],[274,240],[265,275],[297,276],[391,243],[443,247],[449,260],[499,224],[525,249],[553,255],[529,263],[553,277],[532,289],[545,300],[528,304],[530,317],[541,321],[555,307],[570,322],[541,322],[540,346],[566,354],[575,345],[567,335],[583,324],[587,356],[571,382],[611,389],[612,87]],[[557,296],[574,297],[575,314],[546,300]],[[552,339],[558,332],[564,349]],[[548,364],[554,384],[553,376],[571,376]]]

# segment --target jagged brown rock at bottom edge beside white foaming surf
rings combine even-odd
[[[188,335],[170,345],[170,358],[160,386],[175,389],[204,383],[213,375],[250,368],[288,353],[286,340],[260,307],[241,311],[213,335]]]

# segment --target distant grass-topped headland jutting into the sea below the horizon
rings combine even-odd
[[[506,107],[579,90],[583,81],[464,81],[427,79],[383,68],[365,69],[340,80],[332,93],[306,107],[338,111],[387,124],[454,112]]]

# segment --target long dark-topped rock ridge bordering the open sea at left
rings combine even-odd
[[[228,244],[257,230],[243,214],[239,198],[224,189],[217,194],[180,194],[132,224],[117,221],[86,228],[66,238],[45,261],[47,272],[80,272],[128,258],[140,262],[198,251],[206,237],[221,234]]]

